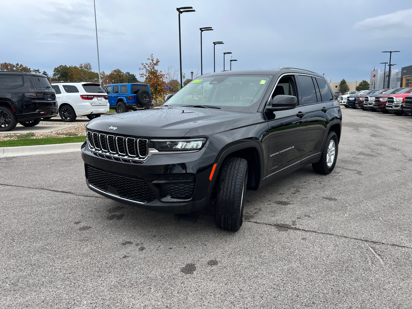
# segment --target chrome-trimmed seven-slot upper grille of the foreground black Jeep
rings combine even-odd
[[[147,159],[147,139],[87,130],[87,142],[95,155],[120,162],[141,163]]]

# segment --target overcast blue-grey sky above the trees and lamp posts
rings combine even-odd
[[[390,4],[390,5],[389,5]],[[199,27],[203,33],[204,73],[223,70],[223,52],[232,52],[234,70],[291,66],[325,73],[328,80],[370,78],[373,66],[412,65],[412,2],[344,1],[108,1],[96,0],[100,69],[120,68],[138,76],[150,54],[159,68],[179,67],[178,13],[181,15],[183,72],[200,67]],[[22,63],[50,75],[61,64],[90,62],[97,71],[93,0],[2,1],[0,63]],[[229,63],[227,56],[227,65]],[[227,69],[229,66],[227,66]]]

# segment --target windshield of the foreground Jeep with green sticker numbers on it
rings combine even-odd
[[[254,103],[260,103],[271,77],[224,75],[197,79],[178,91],[165,105],[248,110]]]

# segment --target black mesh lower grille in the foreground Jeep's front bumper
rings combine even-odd
[[[146,180],[142,178],[131,178],[95,169],[87,165],[87,180],[89,180],[91,185],[103,192],[108,192],[108,186],[114,187],[119,193],[119,197],[131,201],[151,202],[156,199]]]

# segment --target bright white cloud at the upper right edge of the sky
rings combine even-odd
[[[371,39],[412,37],[412,9],[404,9],[359,21],[353,28],[369,33]]]

